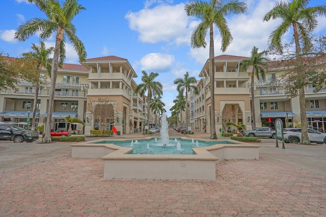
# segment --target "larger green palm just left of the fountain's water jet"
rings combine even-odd
[[[141,96],[144,96],[145,92],[147,91],[147,126],[149,126],[150,99],[155,95],[163,95],[163,85],[158,81],[154,81],[158,76],[158,73],[151,72],[150,74],[147,74],[145,70],[143,70],[142,73],[142,81],[144,83],[137,85],[135,92],[139,93]]]

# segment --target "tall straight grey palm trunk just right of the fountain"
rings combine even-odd
[[[215,127],[215,63],[214,63],[214,38],[213,23],[209,30],[209,78],[210,78],[210,139],[218,139]]]

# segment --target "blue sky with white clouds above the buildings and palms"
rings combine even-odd
[[[267,48],[270,33],[280,20],[263,22],[276,0],[242,0],[248,5],[243,15],[227,16],[226,20],[233,37],[232,43],[223,53],[221,38],[214,31],[214,56],[227,54],[248,56],[253,46],[262,51]],[[62,3],[63,1],[60,0]],[[188,17],[182,0],[79,0],[86,8],[75,16],[72,23],[76,35],[86,47],[87,58],[115,55],[128,59],[138,75],[137,84],[142,83],[142,71],[157,72],[156,81],[163,85],[161,101],[166,104],[168,117],[170,108],[178,94],[173,81],[189,76],[199,80],[199,73],[209,57],[209,47],[192,49],[191,34],[199,24],[195,17]],[[309,6],[326,4],[325,0],[311,0]],[[12,57],[31,51],[32,43],[39,43],[38,35],[25,42],[18,42],[14,34],[19,25],[33,18],[46,18],[28,0],[1,0],[0,7],[0,51]],[[326,17],[318,17],[315,34],[325,34]],[[283,38],[291,36],[287,32]],[[206,42],[209,44],[208,35]],[[55,46],[55,38],[45,41],[46,47]],[[65,63],[79,64],[72,46],[66,45]]]

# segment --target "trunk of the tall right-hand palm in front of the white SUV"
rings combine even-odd
[[[296,59],[296,73],[298,77],[304,79],[303,72],[303,60],[301,56],[301,47],[299,41],[299,35],[296,28],[296,22],[292,23],[293,26],[293,37],[295,42],[295,59]],[[307,126],[307,114],[306,114],[306,97],[305,97],[305,87],[300,88],[299,90],[299,102],[300,102],[300,115],[301,115],[301,144],[310,144],[308,136],[308,126]]]

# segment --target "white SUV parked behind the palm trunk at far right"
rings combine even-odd
[[[299,143],[301,140],[301,128],[285,128],[283,133],[286,143]],[[308,136],[310,142],[326,144],[325,133],[320,133],[319,131],[308,128]]]

